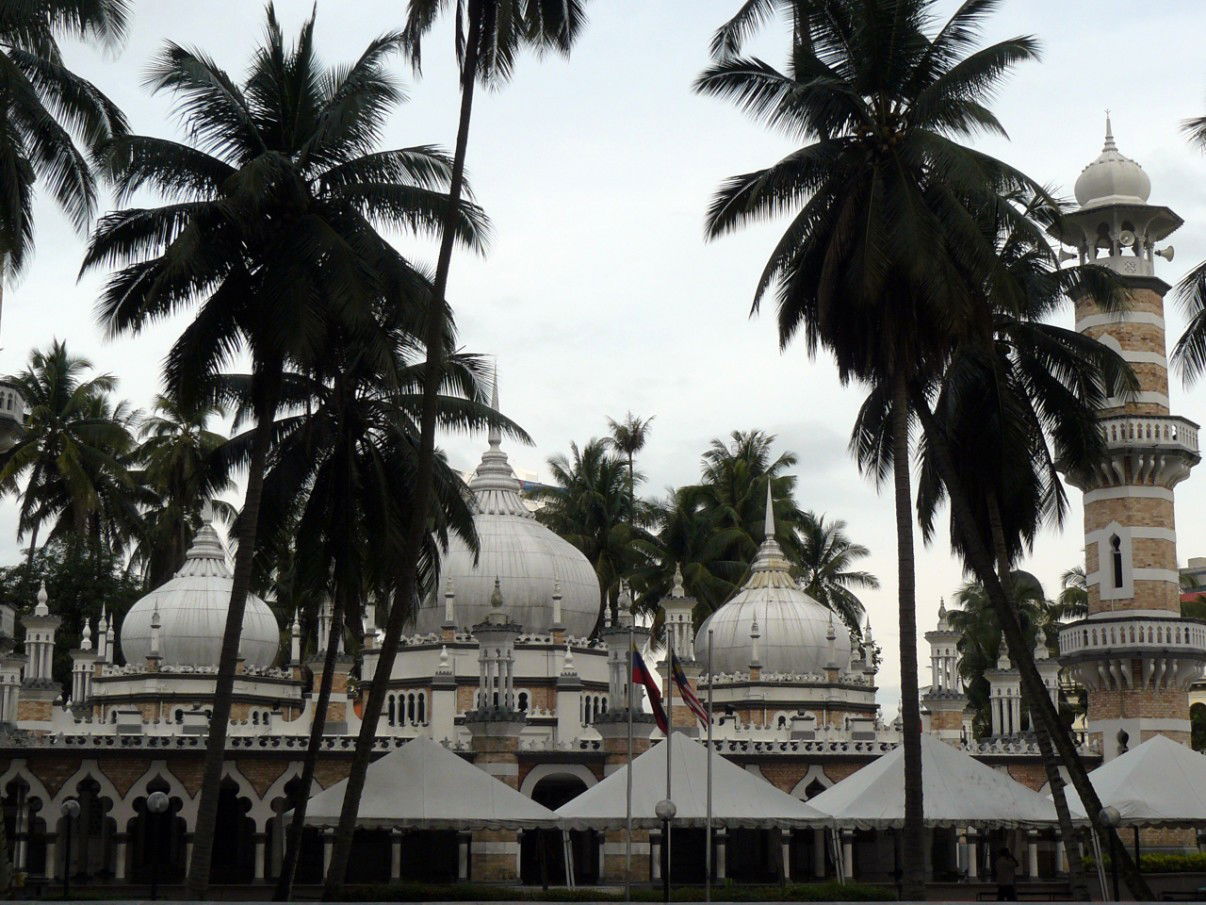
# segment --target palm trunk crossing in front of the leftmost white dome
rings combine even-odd
[[[193,830],[193,860],[188,865],[188,892],[194,899],[205,899],[210,884],[210,865],[213,859],[213,833],[218,817],[218,795],[222,786],[222,763],[226,759],[227,730],[230,726],[230,706],[234,695],[234,672],[239,662],[239,638],[242,635],[242,615],[251,591],[251,570],[256,554],[256,529],[259,522],[259,501],[264,492],[264,469],[273,439],[273,416],[276,411],[277,387],[271,375],[264,387],[256,413],[256,439],[251,446],[247,467],[247,495],[236,530],[239,547],[234,557],[234,578],[230,583],[230,605],[227,608],[226,630],[222,634],[222,653],[218,656],[218,676],[213,687],[213,711],[210,717],[209,738],[205,746],[205,767],[201,776],[200,804],[197,808],[197,825]]]

